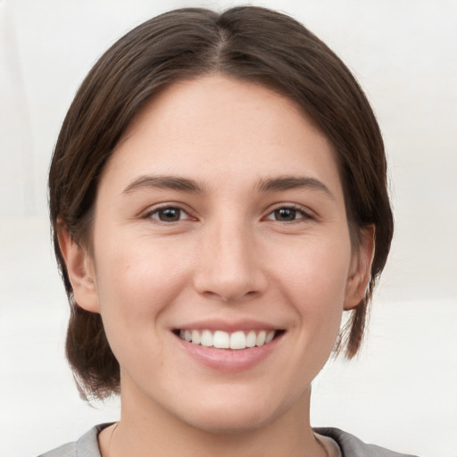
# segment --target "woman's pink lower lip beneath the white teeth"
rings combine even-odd
[[[175,335],[179,345],[196,361],[213,370],[234,372],[253,368],[265,360],[278,346],[283,335],[278,335],[270,343],[246,349],[216,349],[194,345]]]

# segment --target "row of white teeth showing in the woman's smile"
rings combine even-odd
[[[194,345],[203,345],[206,347],[216,347],[218,349],[245,349],[246,347],[268,345],[275,337],[275,330],[267,332],[261,330],[255,332],[244,331],[233,333],[216,330],[212,333],[210,330],[179,330],[179,337]]]

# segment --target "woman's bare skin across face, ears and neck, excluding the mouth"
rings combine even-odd
[[[132,185],[145,176],[201,188]],[[314,184],[259,188],[284,177]],[[160,220],[163,206],[178,220]],[[89,253],[59,234],[75,299],[101,313],[120,362],[104,456],[110,440],[110,457],[325,455],[311,382],[367,286],[373,230],[351,245],[335,152],[295,102],[218,74],[166,88],[112,154],[92,236]],[[172,330],[216,319],[285,332],[252,367],[215,370]]]

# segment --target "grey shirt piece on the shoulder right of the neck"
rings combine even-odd
[[[339,445],[343,457],[415,457],[411,454],[395,453],[377,445],[367,445],[339,428],[314,428],[314,431],[333,438]]]

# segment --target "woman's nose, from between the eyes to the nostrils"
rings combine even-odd
[[[268,281],[252,232],[228,221],[205,230],[194,279],[199,294],[231,303],[262,295]]]

